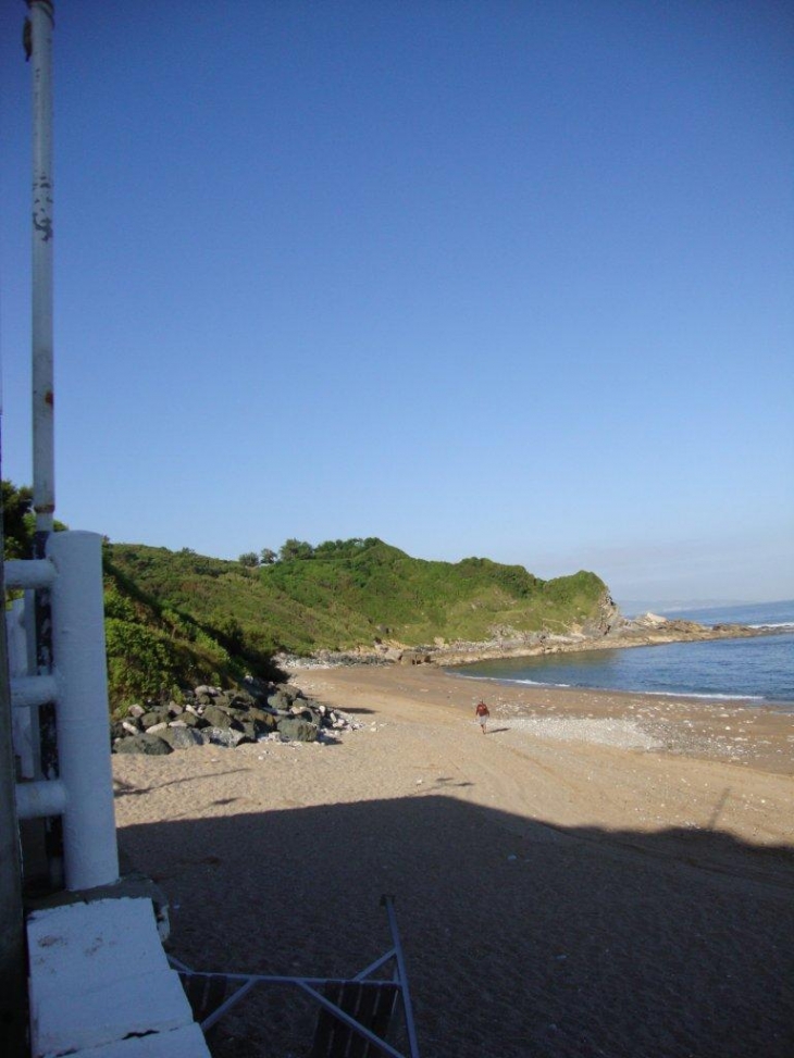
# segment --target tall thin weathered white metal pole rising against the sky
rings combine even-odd
[[[33,501],[36,531],[46,534],[52,530],[55,509],[52,370],[54,15],[50,0],[27,0],[27,3],[30,9],[33,66]]]

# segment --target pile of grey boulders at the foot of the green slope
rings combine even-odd
[[[245,690],[201,686],[184,701],[131,706],[111,724],[115,754],[171,754],[191,746],[233,748],[245,742],[317,742],[325,732],[355,726],[349,717],[307,698],[290,684],[276,684],[261,696]]]

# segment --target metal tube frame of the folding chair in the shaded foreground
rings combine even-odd
[[[179,976],[183,979],[183,983],[189,983],[190,979],[223,979],[227,985],[236,985],[235,991],[228,996],[219,1007],[211,1011],[206,1018],[203,1018],[199,1023],[201,1030],[206,1033],[208,1032],[224,1015],[235,1007],[240,999],[243,999],[250,991],[258,984],[277,984],[277,985],[295,985],[300,988],[307,995],[311,996],[320,1006],[327,1010],[334,1018],[342,1021],[353,1032],[358,1033],[368,1043],[373,1044],[380,1051],[388,1055],[389,1058],[419,1058],[419,1044],[417,1042],[417,1030],[413,1022],[413,1008],[411,1006],[411,997],[408,988],[408,975],[406,973],[405,957],[402,954],[402,945],[400,943],[399,931],[397,930],[397,917],[394,909],[394,897],[389,895],[384,895],[381,897],[381,906],[386,909],[386,914],[388,917],[388,925],[392,933],[392,947],[385,951],[379,959],[365,967],[355,978],[296,978],[296,976],[281,976],[277,974],[262,974],[262,973],[226,973],[222,972],[210,972],[200,970],[190,970],[188,967],[175,959],[173,956],[169,956],[169,961],[171,966],[178,971]],[[380,970],[387,966],[387,963],[393,961],[392,978],[375,978]],[[353,1016],[344,1010],[338,1004],[332,1001],[327,996],[323,995],[320,991],[321,988],[327,987],[328,985],[368,985],[372,988],[392,988],[396,989],[401,1001],[402,1001],[402,1015],[405,1019],[406,1034],[408,1038],[408,1054],[397,1050],[392,1044],[386,1043],[386,1041],[373,1032],[361,1021],[357,1020]]]

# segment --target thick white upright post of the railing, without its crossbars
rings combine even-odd
[[[67,889],[119,880],[99,533],[52,533],[52,654]]]

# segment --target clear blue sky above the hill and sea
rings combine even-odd
[[[794,597],[794,9],[57,0],[57,516]],[[2,473],[30,66],[0,4]]]

